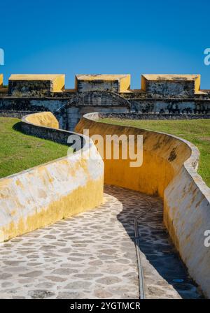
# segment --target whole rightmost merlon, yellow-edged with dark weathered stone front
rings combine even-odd
[[[142,75],[141,89],[153,95],[193,96],[200,91],[200,75]]]

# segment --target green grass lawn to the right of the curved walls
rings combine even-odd
[[[210,119],[132,120],[101,119],[100,122],[135,126],[142,129],[172,133],[194,143],[200,150],[198,173],[210,187]]]

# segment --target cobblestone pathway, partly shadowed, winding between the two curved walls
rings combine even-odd
[[[0,244],[0,298],[139,298],[134,217],[146,298],[199,298],[162,226],[162,201],[111,186],[99,208]]]

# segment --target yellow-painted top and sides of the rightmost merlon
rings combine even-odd
[[[195,82],[195,93],[200,91],[200,74],[142,74],[141,89],[146,91],[146,81],[153,82]]]

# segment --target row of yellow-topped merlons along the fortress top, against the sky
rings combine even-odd
[[[193,97],[208,94],[200,90],[200,75],[141,75],[141,89],[130,88],[130,74],[76,75],[74,89],[65,89],[65,75],[11,75],[8,96],[68,96],[72,92],[114,92],[116,94],[141,94],[151,97]],[[3,75],[0,74],[0,89]]]

